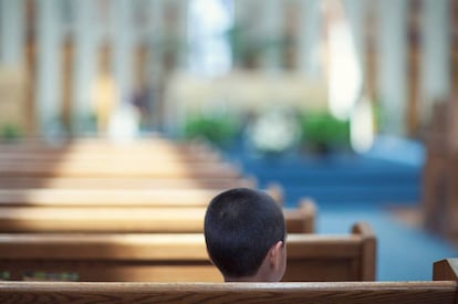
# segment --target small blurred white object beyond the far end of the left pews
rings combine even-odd
[[[137,109],[125,104],[110,117],[107,136],[116,144],[128,144],[139,135],[139,114]]]

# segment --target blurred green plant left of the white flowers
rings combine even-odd
[[[217,146],[230,143],[239,132],[235,117],[227,115],[194,115],[185,123],[185,138],[199,138]]]

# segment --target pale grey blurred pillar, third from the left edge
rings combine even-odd
[[[73,97],[72,97],[72,128],[79,134],[92,127],[92,116],[95,115],[93,105],[92,84],[95,81],[97,66],[97,27],[94,22],[92,0],[74,1],[74,52],[73,62]],[[90,129],[87,129],[90,128]]]

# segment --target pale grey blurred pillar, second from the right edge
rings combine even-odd
[[[378,0],[378,101],[382,132],[406,135],[407,1]]]

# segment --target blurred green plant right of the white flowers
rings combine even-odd
[[[309,113],[301,117],[301,141],[310,150],[326,153],[350,146],[350,122],[330,113]]]

